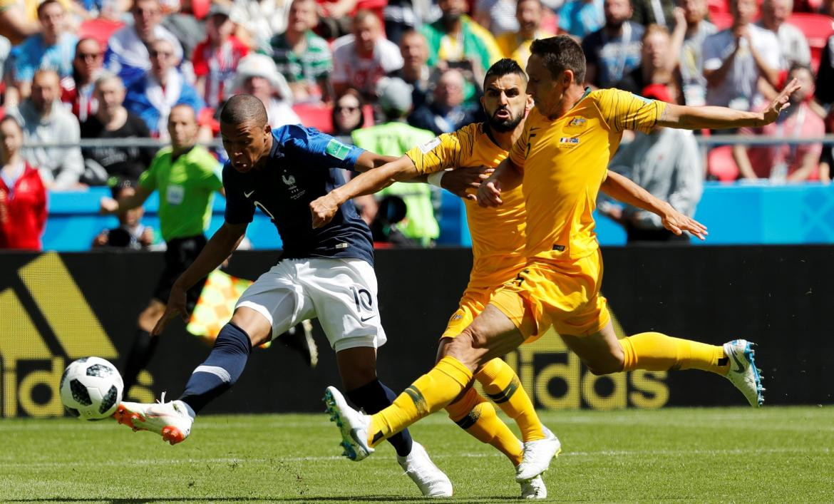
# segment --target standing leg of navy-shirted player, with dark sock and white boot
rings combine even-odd
[[[367,413],[376,413],[389,406],[396,395],[376,376],[376,349],[360,346],[336,353],[339,375],[350,401]],[[397,451],[397,461],[424,496],[452,496],[452,483],[435,466],[420,443],[413,441],[409,431],[402,431],[388,439]],[[345,453],[349,454],[349,446]]]

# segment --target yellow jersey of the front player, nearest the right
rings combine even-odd
[[[599,248],[596,194],[625,129],[651,132],[666,103],[619,89],[586,91],[553,121],[534,109],[510,159],[524,169],[525,255],[579,259]]]

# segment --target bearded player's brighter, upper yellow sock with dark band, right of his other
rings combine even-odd
[[[545,431],[539,416],[535,414],[533,401],[530,401],[530,396],[509,364],[500,359],[490,360],[478,371],[475,380],[480,381],[486,395],[495,401],[501,411],[515,420],[521,431],[521,439],[525,442],[545,439]]]

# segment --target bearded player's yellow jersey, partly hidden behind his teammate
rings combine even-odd
[[[405,153],[420,174],[469,166],[495,168],[507,157],[484,131],[472,123]],[[466,220],[472,236],[473,267],[469,287],[495,287],[515,278],[525,265],[525,206],[522,189],[501,194],[504,204],[483,208],[465,200]]]

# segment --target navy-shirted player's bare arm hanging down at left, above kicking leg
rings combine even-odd
[[[224,222],[220,226],[220,229],[208,240],[197,259],[188,266],[188,270],[179,275],[179,278],[173,283],[171,294],[168,296],[168,305],[165,305],[165,313],[160,317],[157,325],[153,327],[151,334],[161,334],[168,322],[177,315],[188,321],[190,314],[185,308],[185,291],[196,284],[198,280],[211,273],[234,252],[234,249],[238,248],[240,240],[244,239],[248,225]]]

